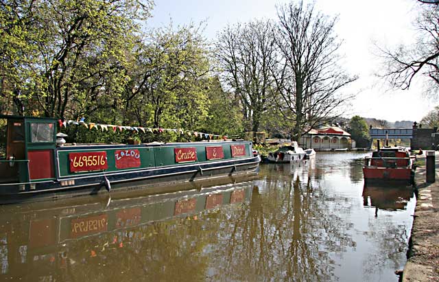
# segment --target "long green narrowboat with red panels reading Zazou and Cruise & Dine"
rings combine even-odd
[[[248,174],[259,167],[250,141],[62,145],[56,119],[0,119],[6,127],[0,203]]]

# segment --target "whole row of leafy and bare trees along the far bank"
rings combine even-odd
[[[150,0],[1,2],[0,113],[294,139],[343,113],[344,87],[356,77],[339,64],[337,18],[313,4],[281,5],[278,19],[230,25],[213,43],[203,24],[148,29],[153,8]],[[65,130],[78,142],[128,138]]]

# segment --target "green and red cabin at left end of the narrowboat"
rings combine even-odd
[[[0,115],[0,183],[54,179],[56,120]]]

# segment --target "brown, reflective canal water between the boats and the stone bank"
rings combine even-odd
[[[413,191],[364,187],[364,156],[0,206],[0,280],[398,281]]]

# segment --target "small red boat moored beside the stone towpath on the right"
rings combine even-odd
[[[364,182],[412,183],[413,159],[403,147],[384,147],[365,158]]]

